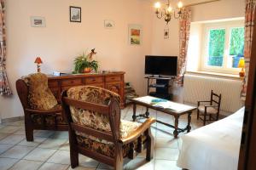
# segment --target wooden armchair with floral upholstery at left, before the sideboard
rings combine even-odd
[[[48,78],[35,73],[16,81],[16,89],[25,115],[26,140],[33,141],[33,130],[67,131],[61,105],[48,88]]]

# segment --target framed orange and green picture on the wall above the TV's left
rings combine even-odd
[[[142,26],[140,25],[129,25],[129,44],[131,45],[141,45],[142,44]]]

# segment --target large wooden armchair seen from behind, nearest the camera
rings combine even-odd
[[[79,153],[123,169],[124,158],[133,159],[147,150],[153,156],[149,118],[143,124],[120,120],[119,95],[104,88],[79,86],[61,96],[63,116],[67,120],[71,167],[79,165]]]

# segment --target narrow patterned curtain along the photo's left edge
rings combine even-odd
[[[9,82],[5,69],[6,59],[6,32],[5,32],[5,20],[4,20],[4,0],[0,3],[0,94],[11,95],[12,91],[9,88]]]

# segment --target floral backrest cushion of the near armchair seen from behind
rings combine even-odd
[[[67,97],[101,105],[108,105],[111,98],[115,98],[120,102],[119,94],[111,92],[105,88],[98,88],[94,86],[78,86],[69,88],[67,90]],[[86,125],[101,131],[111,131],[108,116],[73,106],[70,106],[70,111],[73,122],[75,123]]]

